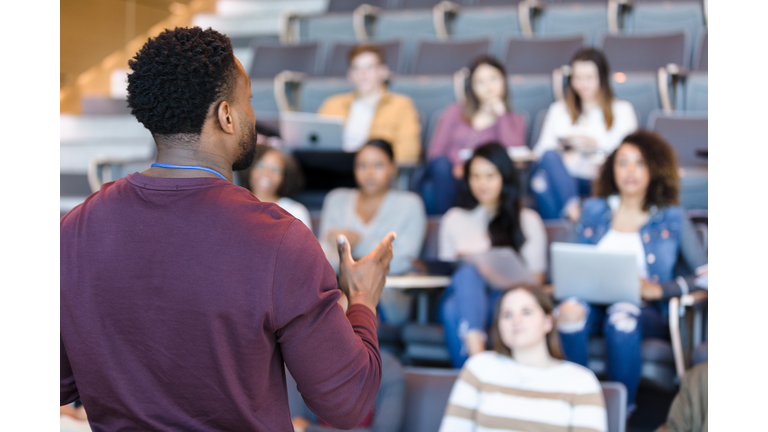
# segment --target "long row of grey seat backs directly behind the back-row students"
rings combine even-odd
[[[707,32],[702,32],[696,49],[696,70],[707,69]],[[655,72],[670,63],[686,67],[686,34],[604,35],[597,48],[605,53],[616,72]],[[447,75],[461,69],[480,55],[493,55],[507,73],[549,73],[567,64],[573,54],[589,46],[583,35],[569,37],[505,38],[503,49],[492,49],[492,38],[478,36],[462,40],[372,41],[384,51],[387,66],[398,74]],[[257,42],[236,48],[235,55],[251,78],[271,78],[283,70],[313,76],[344,76],[347,53],[358,42],[328,40],[280,45]],[[408,52],[409,43],[415,48]],[[500,52],[499,52],[500,51]]]

